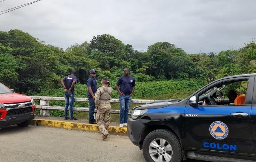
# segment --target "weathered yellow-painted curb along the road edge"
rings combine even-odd
[[[89,130],[89,131],[100,132],[97,124],[85,124],[85,123],[75,123],[75,122],[71,123],[71,122],[64,122],[59,120],[45,120],[45,119],[33,119],[30,124],[35,126],[51,126],[51,127],[65,128],[65,129]],[[109,126],[108,132],[110,134],[127,135],[127,128]]]

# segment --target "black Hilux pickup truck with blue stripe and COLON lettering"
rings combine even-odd
[[[235,100],[243,96],[241,102],[230,92]],[[256,161],[256,74],[218,79],[185,99],[134,107],[127,130],[147,162]]]

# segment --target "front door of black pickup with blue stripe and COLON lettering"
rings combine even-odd
[[[222,100],[226,100],[227,91],[235,89],[244,92],[245,102],[240,105],[216,102],[218,100],[214,96],[215,91],[218,91],[221,86],[225,87],[222,90]],[[199,102],[196,106],[188,101],[184,121],[189,147],[210,152],[253,154],[250,124],[253,87],[254,77],[227,79],[209,85],[202,92],[198,92]],[[204,98],[207,100],[206,106],[201,105],[200,99]]]

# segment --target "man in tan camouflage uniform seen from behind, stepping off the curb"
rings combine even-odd
[[[95,107],[97,109],[96,122],[99,130],[102,132],[102,139],[108,136],[108,127],[110,119],[110,98],[113,88],[110,86],[108,79],[105,77],[101,80],[102,87],[95,93]]]

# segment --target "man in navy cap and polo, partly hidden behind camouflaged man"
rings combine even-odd
[[[94,110],[95,110],[94,95],[98,89],[97,80],[96,80],[97,71],[95,71],[94,69],[91,69],[89,72],[90,72],[90,77],[87,80],[87,87],[88,87],[87,97],[89,100],[89,124],[97,124],[93,117]]]

